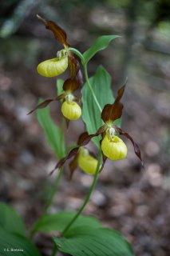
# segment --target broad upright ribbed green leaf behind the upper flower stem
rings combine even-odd
[[[104,67],[99,66],[96,74],[92,78],[89,78],[89,82],[101,109],[104,108],[105,104],[112,104],[114,102],[113,92],[111,90],[111,78]],[[86,130],[89,134],[94,134],[102,126],[103,122],[101,120],[101,112],[97,108],[87,84],[85,84],[82,90],[82,102],[82,118],[85,122]],[[98,147],[100,146],[99,141],[100,136],[93,138],[93,142]]]

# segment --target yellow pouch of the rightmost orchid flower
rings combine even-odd
[[[127,146],[117,136],[111,138],[109,134],[105,135],[105,138],[101,142],[101,150],[103,154],[111,160],[120,160],[126,157],[127,155]]]

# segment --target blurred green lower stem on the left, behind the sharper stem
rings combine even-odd
[[[49,206],[51,206],[51,204],[53,202],[53,197],[57,192],[57,189],[58,189],[58,186],[59,186],[59,183],[60,183],[60,180],[61,180],[62,172],[63,172],[62,169],[58,171],[57,178],[56,178],[55,183],[53,185],[53,189],[52,189],[51,194],[49,196],[48,202],[46,202],[45,208],[42,212],[42,216],[38,219],[38,222],[45,216],[45,214],[47,214],[47,212],[49,210]],[[34,235],[37,232],[36,223],[34,224],[34,226],[32,227],[32,229],[30,231],[30,238],[34,238]]]

